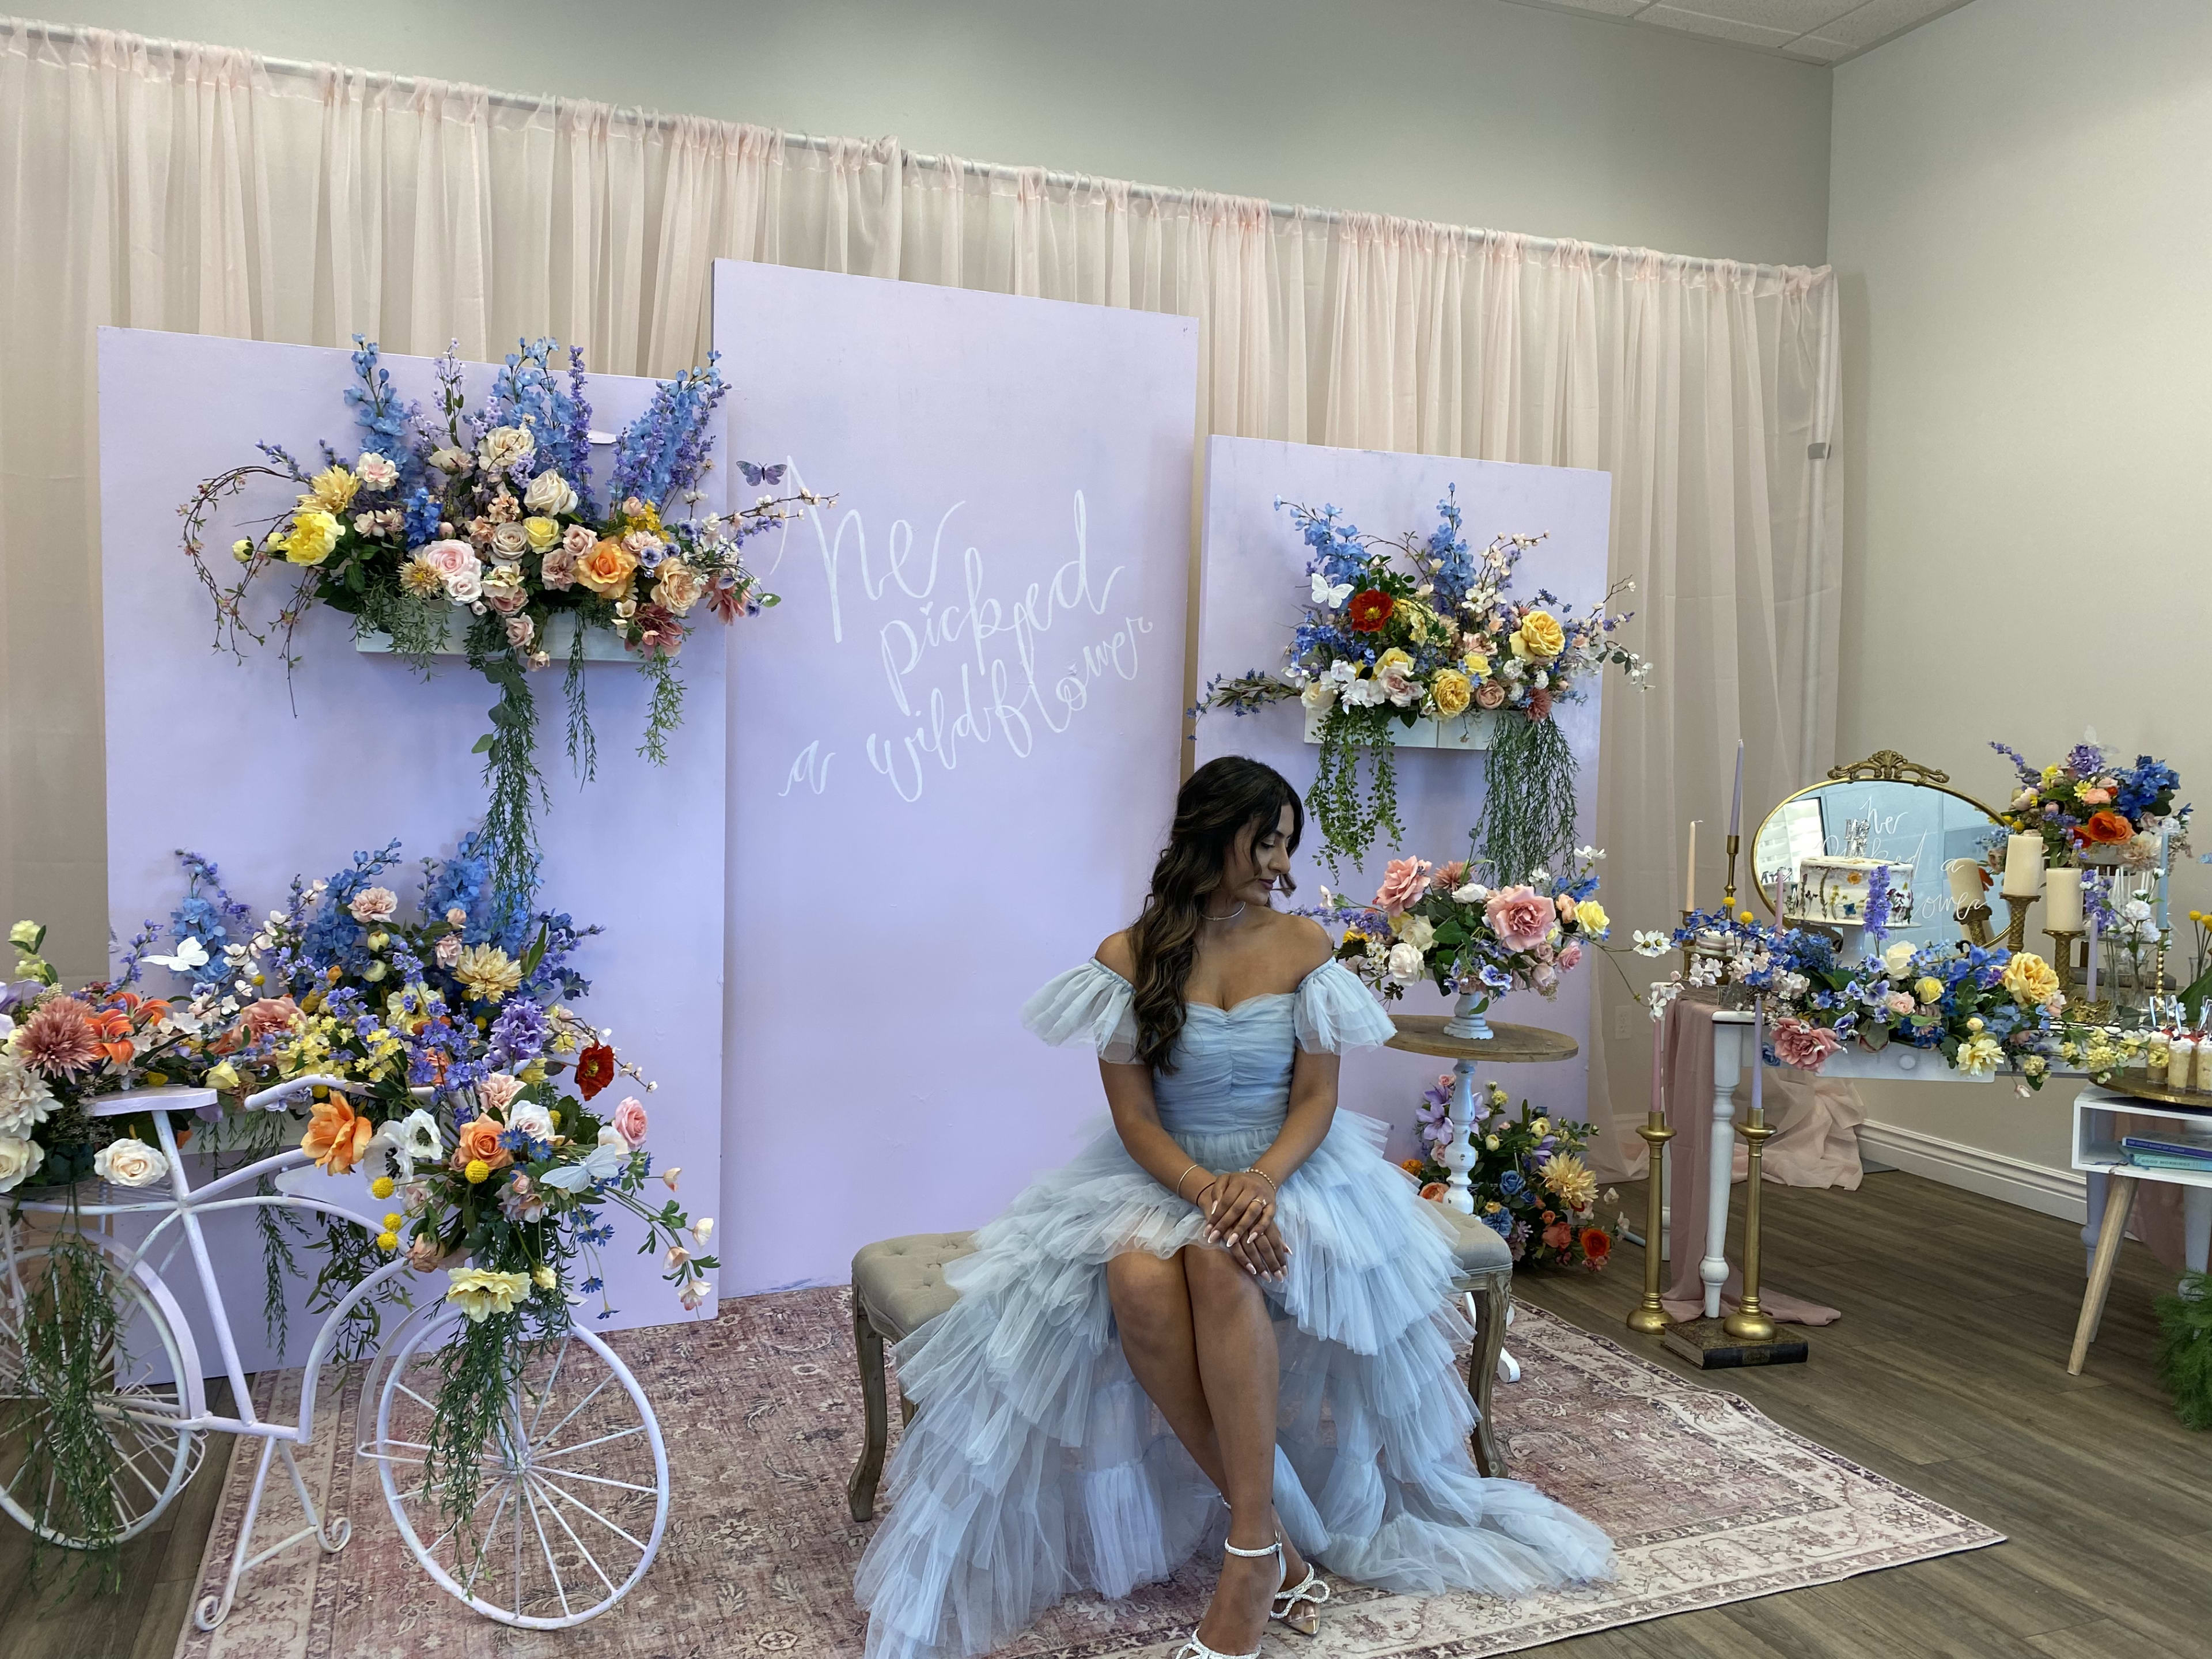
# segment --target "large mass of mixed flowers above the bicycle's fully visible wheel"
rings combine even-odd
[[[604,1210],[644,1221],[644,1250],[661,1256],[688,1310],[712,1294],[706,1272],[719,1261],[706,1252],[714,1223],[672,1197],[679,1170],[655,1170],[644,1102],[604,1102],[617,1077],[639,1073],[571,1006],[591,989],[575,951],[599,929],[504,894],[482,832],[422,860],[414,916],[385,885],[398,863],[392,843],[327,880],[294,878],[288,902],[252,925],[217,869],[184,854],[188,894],[168,925],[177,949],[146,960],[184,973],[190,1018],[221,1033],[206,1046],[210,1086],[358,1084],[316,1088],[305,1121],[276,1110],[226,1128],[252,1152],[296,1137],[332,1175],[372,1170],[369,1190],[392,1201],[374,1237],[323,1228],[314,1305],[336,1305],[403,1250],[416,1272],[442,1276],[465,1321],[440,1356],[422,1480],[449,1517],[465,1517],[526,1356],[586,1296],[599,1294],[597,1318],[615,1312],[597,1265],[613,1239]],[[659,1203],[655,1179],[668,1192]],[[378,1318],[374,1305],[356,1310],[341,1352],[367,1354]]]

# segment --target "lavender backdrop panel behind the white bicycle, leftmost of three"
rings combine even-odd
[[[431,396],[429,358],[385,363],[405,396]],[[257,440],[314,456],[327,438],[343,456],[358,453],[341,396],[349,376],[347,352],[100,332],[108,918],[117,938],[168,916],[181,891],[179,847],[215,858],[232,894],[259,914],[281,900],[294,874],[327,876],[354,849],[394,836],[409,858],[447,854],[482,818],[482,759],[469,745],[489,730],[493,692],[467,664],[440,659],[425,681],[398,657],[356,653],[347,619],[316,608],[299,628],[301,664],[285,684],[276,650],[248,650],[243,664],[210,650],[210,599],[179,549],[177,504],[199,480],[250,460]],[[489,367],[473,376],[471,403],[489,378]],[[591,396],[593,425],[619,431],[644,411],[653,383],[593,376]],[[254,520],[290,498],[281,480],[259,480],[208,535],[212,555],[221,560],[232,538],[257,533]],[[263,615],[283,591],[281,575],[270,580]],[[538,761],[553,794],[540,821],[542,898],[577,922],[606,927],[577,956],[593,980],[580,1009],[613,1026],[624,1053],[659,1082],[644,1095],[648,1146],[659,1164],[686,1168],[690,1208],[712,1212],[728,697],[714,637],[721,624],[701,626],[681,659],[690,695],[666,768],[635,754],[646,684],[633,666],[586,666],[599,732],[599,776],[588,787],[562,748],[560,670],[544,670],[535,690],[544,721]],[[418,894],[416,883],[392,885],[407,900]],[[153,969],[157,984],[164,978]],[[210,1232],[221,1239],[223,1296],[248,1365],[274,1363],[261,1334],[259,1243],[239,1217],[217,1219]],[[619,1310],[606,1325],[688,1318],[619,1221],[604,1274]],[[197,1323],[212,1365],[217,1349],[204,1318]],[[285,1363],[299,1363],[312,1329],[312,1318],[294,1314]]]

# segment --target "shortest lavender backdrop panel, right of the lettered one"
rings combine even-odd
[[[1279,668],[1290,630],[1307,597],[1307,546],[1287,511],[1274,507],[1334,502],[1354,524],[1376,535],[1436,529],[1436,504],[1458,487],[1469,546],[1484,546],[1506,531],[1546,533],[1548,540],[1520,564],[1515,593],[1551,588],[1586,608],[1606,593],[1606,531],[1613,478],[1571,467],[1515,467],[1498,460],[1447,456],[1398,456],[1374,449],[1323,449],[1318,445],[1265,438],[1212,438],[1206,447],[1206,562],[1199,611],[1199,684],[1214,675]],[[1555,712],[1582,761],[1577,787],[1577,838],[1590,841],[1597,823],[1597,697],[1562,703]],[[1305,741],[1298,703],[1276,703],[1259,714],[1237,717],[1212,710],[1199,721],[1197,759],[1252,754],[1281,770],[1301,792],[1314,783],[1318,748]],[[1367,865],[1345,867],[1329,878],[1321,863],[1321,832],[1307,823],[1298,852],[1298,896],[1294,905],[1318,902],[1327,883],[1354,898],[1369,898],[1389,858],[1418,854],[1442,863],[1467,856],[1467,832],[1482,810],[1484,754],[1447,750],[1398,750],[1400,847],[1376,845]],[[1599,867],[1604,876],[1604,867]],[[1526,1095],[1544,1110],[1588,1117],[1590,975],[1610,969],[1590,956],[1566,975],[1559,995],[1546,1002],[1520,991],[1491,1009],[1493,1020],[1564,1031],[1584,1053],[1555,1066],[1491,1066],[1480,1079],[1498,1077],[1513,1097]],[[1449,1013],[1436,987],[1407,991],[1396,1013]],[[1413,1150],[1413,1104],[1436,1082],[1444,1062],[1396,1051],[1371,1051],[1345,1062],[1343,1104],[1391,1126],[1391,1155]]]

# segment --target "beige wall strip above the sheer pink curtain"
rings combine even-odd
[[[31,0],[24,11],[1677,254],[1818,265],[1827,243],[1827,69],[1502,0]]]

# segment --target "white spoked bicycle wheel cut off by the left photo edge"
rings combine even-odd
[[[206,1447],[201,1429],[184,1427],[186,1358],[168,1314],[113,1252],[86,1243],[106,1263],[113,1321],[58,1316],[51,1245],[0,1256],[0,1509],[69,1548],[144,1533],[184,1491]],[[91,1422],[75,1425],[62,1422],[51,1400],[55,1367],[71,1358],[71,1323],[97,1345],[91,1363],[100,1378]],[[73,1462],[91,1458],[88,1478],[60,1475],[62,1440]]]

